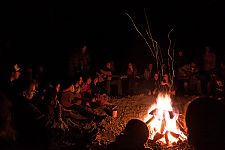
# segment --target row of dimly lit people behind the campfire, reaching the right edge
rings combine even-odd
[[[73,78],[75,74],[79,74],[83,77],[91,75],[92,78],[95,78],[97,75],[100,82],[105,80],[104,88],[109,96],[113,93],[116,93],[117,96],[133,95],[140,93],[140,89],[142,89],[142,92],[148,95],[157,95],[158,91],[166,90],[170,94],[181,96],[224,97],[225,62],[223,56],[218,57],[210,46],[205,46],[200,56],[187,56],[183,50],[176,53],[173,68],[171,65],[169,68],[166,63],[157,66],[152,58],[152,60],[144,62],[142,67],[132,61],[120,64],[119,66],[123,70],[116,72],[117,68],[114,65],[116,60],[106,61],[102,68],[102,64],[93,67],[87,46],[84,46],[80,54],[70,57],[68,76]],[[145,67],[143,68],[143,66]]]

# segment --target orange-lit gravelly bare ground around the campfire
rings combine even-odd
[[[186,106],[194,98],[195,97],[176,97],[172,100],[173,108],[179,110],[179,119],[181,120],[181,122],[183,122],[184,120]],[[101,122],[102,129],[98,132],[95,145],[98,145],[99,147],[106,147],[107,144],[115,140],[115,137],[121,133],[121,131],[125,128],[127,122],[131,119],[140,119],[144,121],[144,118],[146,117],[146,115],[148,115],[148,109],[154,103],[154,99],[155,97],[145,95],[112,99],[112,103],[117,105],[117,118],[108,116]],[[146,144],[146,147],[157,150],[191,149],[187,144],[187,141],[168,147],[167,145],[161,145],[149,140]]]

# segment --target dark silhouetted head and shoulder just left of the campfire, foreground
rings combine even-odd
[[[108,150],[147,150],[144,144],[149,137],[147,125],[138,119],[131,119],[115,142],[108,145]]]

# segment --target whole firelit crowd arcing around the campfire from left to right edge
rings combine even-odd
[[[116,89],[118,97],[133,95],[140,87],[146,89],[146,95],[164,92],[172,96],[224,97],[225,63],[221,61],[219,68],[216,67],[216,55],[209,47],[205,47],[200,61],[186,62],[183,52],[179,52],[179,57],[175,58],[175,82],[170,80],[165,64],[162,64],[165,70],[160,74],[153,61],[147,63],[142,73],[139,73],[134,63],[129,62],[124,73],[114,74],[112,61],[107,61],[104,67],[93,71],[86,50],[87,46],[84,46],[81,54],[71,57],[70,72],[64,80],[46,79],[42,65],[38,65],[36,70],[18,63],[1,68],[0,119],[5,122],[0,126],[2,147],[47,149],[49,144],[54,143],[49,141],[54,137],[53,129],[71,129],[66,118],[70,118],[73,123],[94,122],[98,126],[116,109],[110,101],[113,89]],[[105,115],[97,114],[94,111],[96,109],[101,109]],[[136,125],[130,124],[131,127],[132,124]],[[88,145],[97,132],[95,127],[83,130],[82,125],[74,132],[70,131],[72,140],[77,140],[81,149]],[[61,137],[63,133],[58,134]],[[130,133],[126,134],[130,136]],[[140,143],[147,140],[146,136]],[[124,136],[120,139],[124,139]]]

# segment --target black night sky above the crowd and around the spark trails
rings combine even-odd
[[[54,64],[65,61],[71,50],[85,43],[94,56],[104,54],[105,58],[122,60],[119,58],[127,55],[126,60],[140,63],[148,59],[148,50],[125,13],[143,29],[144,8],[162,47],[166,47],[167,33],[174,28],[177,50],[199,53],[207,44],[216,51],[224,50],[225,9],[218,0],[18,1],[1,7],[0,54],[4,58],[14,53],[13,58],[19,56],[23,61],[49,62],[51,56]]]

